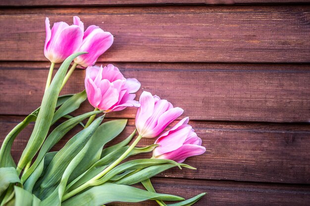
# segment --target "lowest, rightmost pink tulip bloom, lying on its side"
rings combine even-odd
[[[155,141],[159,146],[153,151],[155,159],[169,159],[183,163],[186,158],[201,155],[206,148],[201,146],[202,140],[197,136],[186,117],[170,130],[163,133]]]

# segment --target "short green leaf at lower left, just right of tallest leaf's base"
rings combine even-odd
[[[50,165],[53,157],[56,155],[57,152],[50,152],[47,153],[39,165],[34,169],[34,171],[31,173],[29,178],[26,180],[26,182],[23,184],[24,189],[32,193],[33,187],[35,183],[39,180],[40,176],[44,174],[44,170],[47,169],[47,166]]]

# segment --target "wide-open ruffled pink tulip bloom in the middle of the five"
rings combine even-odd
[[[86,69],[85,88],[88,101],[93,107],[105,112],[120,111],[126,107],[140,107],[134,100],[141,83],[125,79],[117,67],[91,66]]]

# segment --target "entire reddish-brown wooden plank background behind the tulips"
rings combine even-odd
[[[198,169],[157,175],[158,192],[207,192],[197,206],[310,205],[309,0],[0,0],[1,141],[40,105],[45,17],[74,15],[114,35],[98,64],[184,108],[203,139],[207,152],[186,161]],[[81,91],[84,76],[75,71],[63,93]],[[129,118],[129,133],[135,111],[108,118]],[[16,161],[32,126],[17,137]]]

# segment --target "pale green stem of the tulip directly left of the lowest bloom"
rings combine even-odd
[[[78,188],[76,188],[76,189],[72,190],[71,192],[65,194],[62,197],[61,201],[65,201],[65,200],[71,198],[72,196],[78,194],[79,192],[85,190],[86,188],[88,188],[90,186],[95,186],[96,183],[94,184],[94,182],[96,180],[102,178],[107,172],[109,172],[111,169],[113,169],[115,166],[117,166],[120,162],[122,162],[127,157],[127,155],[135,148],[135,146],[138,144],[138,142],[141,140],[141,138],[142,138],[142,136],[139,135],[135,139],[135,141],[130,145],[130,147],[124,152],[124,154],[122,154],[122,156],[120,156],[117,160],[115,160],[114,163],[112,163],[111,165],[106,167],[102,172],[100,172],[95,177],[93,177],[92,179],[88,180],[87,182],[85,182],[84,184],[79,186]]]

